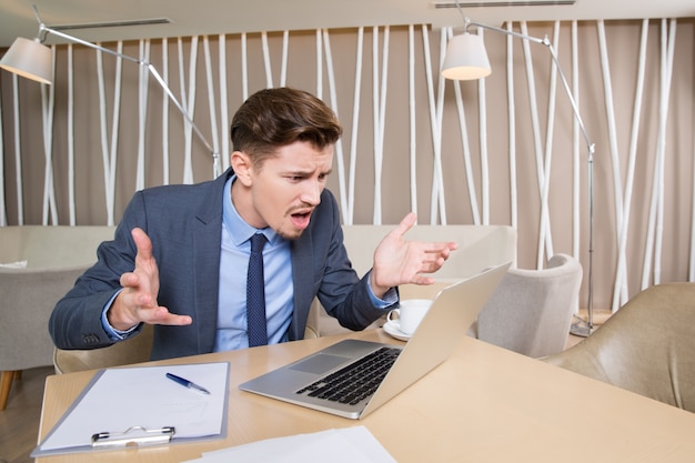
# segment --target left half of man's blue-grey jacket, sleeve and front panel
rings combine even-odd
[[[231,172],[194,185],[157,187],[137,192],[113,241],[98,249],[98,262],[61,299],[49,322],[60,349],[113,344],[101,313],[121,289],[120,276],[134,269],[131,230],[152,241],[160,276],[158,302],[172,313],[191,315],[188,326],[155,326],[152,359],[212,352],[216,324],[222,230],[222,191]]]

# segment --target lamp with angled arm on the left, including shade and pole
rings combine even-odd
[[[109,50],[107,48],[100,47],[98,44],[88,42],[82,39],[78,39],[77,37],[69,36],[67,33],[60,32],[56,29],[51,29],[47,27],[39,18],[39,10],[36,6],[33,6],[33,12],[37,17],[37,21],[39,22],[39,33],[37,39],[29,40],[22,37],[18,37],[14,39],[12,46],[4,53],[2,59],[0,60],[0,68],[3,68],[10,72],[13,72],[18,76],[24,77],[27,79],[34,80],[37,82],[52,84],[53,83],[53,69],[52,69],[52,53],[51,50],[46,47],[42,42],[46,40],[49,33],[53,36],[58,36],[62,39],[66,39],[71,42],[79,43],[84,47],[93,48],[99,51],[103,51],[104,53],[113,54],[114,57],[122,58],[128,61],[132,61],[134,63],[140,64],[148,69],[150,74],[154,77],[157,83],[164,90],[164,93],[169,97],[169,99],[174,103],[174,105],[181,111],[185,121],[191,124],[193,131],[203,142],[208,151],[212,153],[212,173],[216,178],[220,174],[220,153],[216,152],[212,145],[208,142],[205,137],[202,134],[198,125],[193,123],[193,120],[189,115],[189,113],[183,109],[183,105],[179,102],[177,97],[173,94],[164,79],[157,71],[154,66],[147,61],[139,60],[133,57],[129,57],[127,54],[119,53],[113,50]]]

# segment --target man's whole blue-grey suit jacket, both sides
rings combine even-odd
[[[128,204],[113,241],[99,246],[98,262],[61,299],[49,322],[60,349],[94,349],[113,344],[101,325],[101,312],[120,286],[120,275],[134,269],[137,249],[130,231],[139,227],[152,240],[159,265],[158,302],[188,314],[188,326],[158,325],[152,359],[212,352],[218,319],[222,192],[231,170],[216,180],[193,185],[157,187],[139,191]],[[352,330],[362,330],[384,313],[369,295],[367,275],[360,280],[351,266],[338,203],[324,190],[321,204],[302,236],[292,242],[294,312],[291,341],[302,339],[314,296]]]

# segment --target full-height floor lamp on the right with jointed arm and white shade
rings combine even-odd
[[[557,54],[555,53],[555,48],[553,43],[547,39],[547,37],[543,39],[538,39],[535,37],[526,36],[523,33],[495,28],[492,26],[483,24],[480,22],[472,21],[463,14],[461,9],[461,4],[459,0],[455,0],[456,8],[463,18],[463,22],[465,24],[464,33],[461,36],[455,36],[449,41],[449,46],[446,48],[446,56],[444,58],[444,64],[442,67],[442,76],[445,79],[452,80],[475,80],[482,79],[486,76],[490,76],[492,69],[490,67],[490,60],[487,59],[487,52],[485,51],[485,44],[483,40],[477,34],[469,33],[470,27],[476,27],[482,29],[488,29],[495,32],[500,32],[506,36],[513,36],[518,39],[530,40],[534,43],[540,43],[542,46],[547,47],[553,61],[557,68],[557,73],[560,74],[560,79],[562,81],[563,88],[570,99],[570,103],[572,104],[572,110],[574,111],[574,117],[580,124],[580,129],[582,131],[582,135],[584,137],[584,141],[586,142],[586,148],[588,151],[588,301],[587,301],[587,320],[581,320],[576,323],[572,324],[570,332],[572,334],[578,336],[587,336],[594,330],[594,288],[593,288],[593,268],[594,268],[594,143],[592,143],[588,134],[586,133],[586,129],[584,128],[584,122],[582,121],[582,114],[580,114],[580,109],[577,108],[576,101],[572,95],[572,91],[570,89],[570,84],[567,83],[567,79],[562,71],[560,62],[557,61]]]

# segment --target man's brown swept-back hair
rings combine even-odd
[[[278,148],[305,141],[323,149],[340,139],[335,113],[313,94],[291,88],[261,90],[239,108],[231,125],[234,151],[260,167]]]

